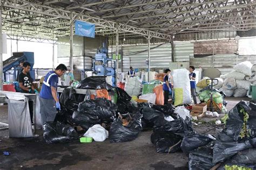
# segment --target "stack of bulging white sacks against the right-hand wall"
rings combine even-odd
[[[250,89],[250,84],[256,81],[254,69],[250,61],[244,61],[234,66],[234,71],[221,75],[224,79],[223,86],[219,89],[223,91],[226,96],[231,97],[245,97],[247,90]]]

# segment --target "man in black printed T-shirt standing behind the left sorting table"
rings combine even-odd
[[[39,94],[38,91],[32,86],[32,78],[29,74],[31,65],[29,62],[23,63],[23,70],[19,74],[19,88],[21,88],[21,93]],[[29,101],[29,111],[31,123],[33,122],[33,102]]]

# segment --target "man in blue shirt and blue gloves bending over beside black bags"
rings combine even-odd
[[[60,64],[54,71],[46,74],[42,90],[39,94],[40,114],[42,123],[53,122],[56,116],[56,109],[60,110],[59,97],[57,94],[58,77],[66,72],[65,65]]]

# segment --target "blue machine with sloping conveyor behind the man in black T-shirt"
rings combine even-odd
[[[34,65],[34,53],[33,52],[14,52],[9,59],[3,61],[3,74],[4,81],[16,81],[18,76],[18,70],[21,71],[19,67],[19,62],[27,61],[31,65],[30,76],[35,80],[35,70],[33,70]]]

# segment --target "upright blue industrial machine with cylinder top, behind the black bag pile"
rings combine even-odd
[[[112,86],[116,86],[116,61],[109,58],[105,42],[103,47],[97,49],[95,58],[92,59],[92,71],[97,76],[112,76]]]

